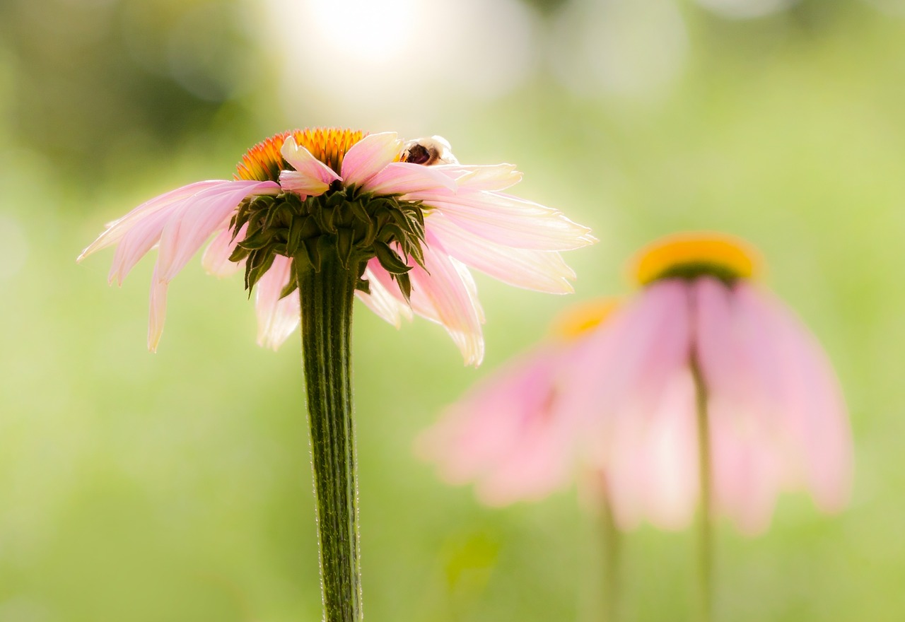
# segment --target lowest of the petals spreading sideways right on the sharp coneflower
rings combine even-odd
[[[504,283],[551,294],[573,291],[569,279],[575,278],[575,272],[556,251],[513,249],[475,239],[440,212],[425,219],[424,226],[452,257]]]

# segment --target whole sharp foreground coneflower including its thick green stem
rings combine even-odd
[[[148,347],[167,285],[213,237],[214,274],[244,266],[258,341],[279,346],[301,322],[325,622],[362,619],[351,316],[357,296],[388,322],[443,325],[465,363],[483,357],[483,315],[468,267],[519,287],[566,293],[559,256],[594,241],[561,212],[502,191],[512,165],[460,165],[439,137],[318,128],[253,146],[233,180],[189,184],[139,205],[79,259],[116,245],[121,282],[157,246]],[[292,296],[298,289],[298,295]]]

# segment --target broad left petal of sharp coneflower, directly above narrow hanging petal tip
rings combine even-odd
[[[160,234],[157,256],[160,278],[175,277],[244,198],[278,192],[280,186],[274,182],[236,180],[228,186],[203,190],[180,203]]]

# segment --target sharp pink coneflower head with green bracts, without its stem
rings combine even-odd
[[[148,348],[157,349],[167,285],[206,240],[203,264],[257,284],[258,343],[278,347],[299,324],[295,261],[317,265],[337,240],[364,259],[357,297],[398,326],[412,312],[443,325],[466,363],[481,363],[483,315],[468,267],[518,287],[571,291],[559,255],[594,241],[561,212],[503,193],[512,165],[460,165],[440,137],[404,143],[395,133],[295,130],[253,146],[233,180],[188,184],[142,203],[85,249],[116,245],[119,284],[158,248]]]

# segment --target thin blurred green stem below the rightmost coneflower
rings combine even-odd
[[[698,598],[700,622],[713,618],[713,490],[710,484],[710,425],[707,418],[707,387],[700,372],[697,354],[691,354],[698,423],[698,475],[700,478],[700,514],[698,519]]]

